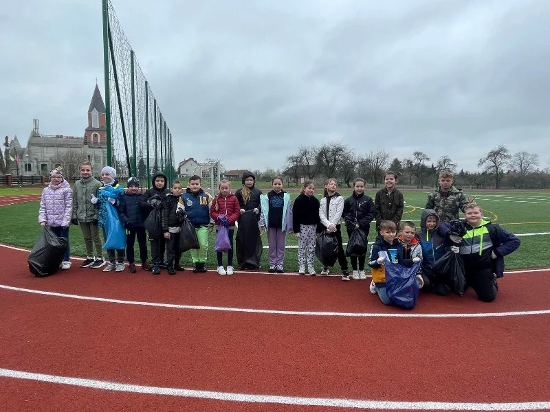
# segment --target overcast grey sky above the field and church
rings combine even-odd
[[[175,158],[282,168],[300,144],[415,150],[476,170],[550,159],[550,1],[113,0]],[[101,0],[0,9],[0,133],[83,135],[103,91]]]

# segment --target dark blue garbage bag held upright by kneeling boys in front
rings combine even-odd
[[[420,285],[416,279],[420,262],[408,268],[401,264],[386,261],[384,262],[384,268],[388,297],[400,308],[414,308],[420,292]]]

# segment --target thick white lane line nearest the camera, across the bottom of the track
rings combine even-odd
[[[400,402],[391,400],[360,400],[342,398],[305,398],[301,396],[252,395],[249,393],[230,393],[217,391],[199,391],[196,389],[180,389],[169,387],[152,387],[109,382],[107,380],[71,378],[35,374],[32,372],[0,369],[0,376],[24,380],[35,380],[61,385],[71,385],[105,391],[120,391],[129,393],[144,393],[152,395],[177,396],[179,398],[200,398],[222,400],[228,402],[247,402],[257,404],[287,404],[308,407],[331,407],[348,409],[408,409],[415,411],[535,411],[549,409],[550,402],[507,402],[507,403],[475,403],[475,402]]]

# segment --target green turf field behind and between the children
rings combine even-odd
[[[320,192],[318,190],[318,192]],[[0,190],[0,195],[1,195]],[[18,194],[23,194],[18,192]],[[351,192],[342,191],[342,196],[349,196]],[[375,192],[367,192],[374,197]],[[423,207],[426,205],[428,192],[404,192],[406,207],[404,220],[412,220],[419,225],[419,219]],[[291,194],[296,198],[297,194]],[[466,196],[468,194],[466,193]],[[541,233],[550,232],[549,204],[550,193],[541,192],[476,192],[474,194],[478,204],[483,207],[485,217],[503,225],[505,229],[513,233]],[[15,244],[23,247],[32,247],[39,236],[41,228],[38,225],[39,202],[21,203],[0,207],[0,221],[2,222],[1,242]],[[371,225],[369,241],[374,239],[374,224]],[[342,233],[344,242],[347,242],[347,233]],[[73,255],[85,255],[85,247],[80,229],[72,226],[69,239]],[[210,251],[208,252],[208,267],[215,267],[216,259],[212,248],[215,235],[210,234]],[[521,246],[518,251],[506,258],[506,267],[531,268],[550,266],[550,255],[540,253],[540,245],[550,242],[550,235],[521,236]],[[263,236],[263,244],[267,245],[267,238]],[[296,246],[297,239],[293,235],[287,236],[287,246]],[[137,248],[136,248],[137,249]],[[537,251],[533,253],[533,251]],[[262,267],[268,266],[267,249],[263,250]],[[136,253],[136,256],[139,253]],[[184,253],[184,264],[190,265],[190,253]],[[225,262],[225,257],[224,257]],[[236,264],[236,260],[235,260]],[[320,263],[316,261],[318,271]],[[288,248],[285,255],[285,269],[296,271],[298,269],[298,250]]]

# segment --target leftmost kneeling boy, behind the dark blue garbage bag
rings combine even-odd
[[[412,264],[420,262],[420,258],[406,259],[404,254],[403,244],[397,239],[397,227],[391,220],[382,220],[380,222],[380,236],[371,246],[371,257],[369,258],[369,266],[371,266],[371,274],[373,275],[374,288],[371,292],[378,294],[384,305],[391,305],[393,302],[386,293],[386,268],[384,262],[401,264],[408,268]],[[423,286],[421,275],[417,275],[417,281],[420,287]]]

